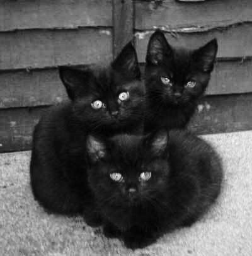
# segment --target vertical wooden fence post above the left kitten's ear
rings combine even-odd
[[[113,58],[133,38],[133,0],[113,0]]]

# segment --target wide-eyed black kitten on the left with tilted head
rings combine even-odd
[[[106,68],[60,67],[71,102],[53,107],[35,127],[31,188],[53,212],[74,214],[88,204],[86,137],[135,132],[142,125],[144,86],[137,55],[128,44]]]

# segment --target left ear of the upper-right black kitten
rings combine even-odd
[[[172,56],[173,50],[168,44],[164,33],[156,30],[151,35],[147,47],[146,62],[147,64],[158,65]]]

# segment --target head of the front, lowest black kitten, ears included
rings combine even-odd
[[[168,134],[89,136],[89,183],[101,206],[155,204],[169,175]]]

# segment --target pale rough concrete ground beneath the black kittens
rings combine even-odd
[[[0,255],[252,255],[252,131],[203,137],[223,158],[219,201],[191,228],[134,252],[81,217],[47,214],[31,195],[30,152],[0,154]]]

